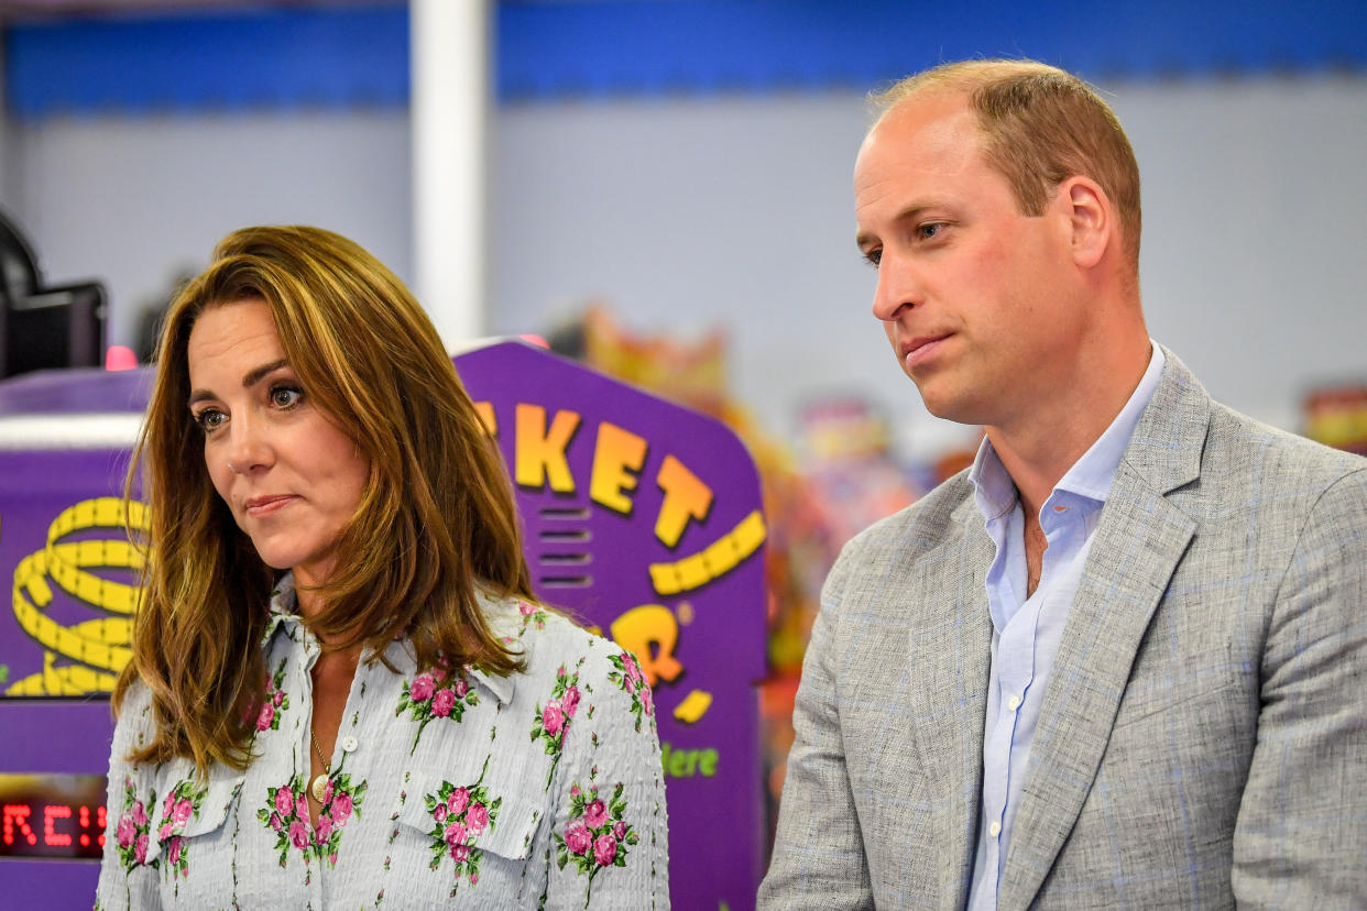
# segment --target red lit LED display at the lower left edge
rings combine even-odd
[[[0,858],[96,858],[108,822],[103,774],[0,774]]]

